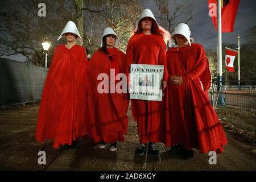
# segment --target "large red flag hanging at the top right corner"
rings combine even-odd
[[[240,0],[223,0],[221,8],[221,32],[233,32]],[[208,0],[209,15],[217,31],[217,0]]]

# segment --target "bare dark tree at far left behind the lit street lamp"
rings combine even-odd
[[[75,20],[72,2],[44,1],[46,17],[38,16],[40,1],[3,0],[0,2],[0,56],[23,55],[35,65],[44,65],[42,40],[56,45],[57,36],[68,20]]]

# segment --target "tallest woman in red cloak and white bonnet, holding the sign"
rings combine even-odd
[[[163,31],[160,30],[151,10],[145,9],[139,18],[135,35],[128,43],[127,72],[131,64],[164,65],[162,90],[167,86],[166,44]],[[159,101],[131,100],[133,118],[137,121],[140,145],[135,150],[135,155],[143,155],[148,151],[152,156],[159,156],[155,142],[159,142],[160,134],[160,104]]]

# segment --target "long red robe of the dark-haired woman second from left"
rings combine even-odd
[[[108,48],[109,55],[98,49],[88,64],[88,107],[90,117],[89,136],[94,142],[117,142],[125,140],[127,134],[127,109],[129,100],[127,93],[99,93],[97,88],[102,80],[97,80],[100,73],[106,73],[110,81],[110,69],[118,73],[125,73],[125,53],[117,48]],[[109,57],[113,60],[110,60]],[[115,80],[114,84],[119,81]]]

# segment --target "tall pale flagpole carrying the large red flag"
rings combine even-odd
[[[221,40],[221,6],[222,1],[218,0],[217,2],[217,91],[221,92],[221,85],[222,85],[222,40]],[[219,93],[218,97],[218,104],[219,105],[225,105],[224,104],[224,97],[221,93]]]

